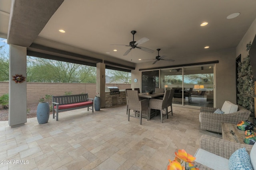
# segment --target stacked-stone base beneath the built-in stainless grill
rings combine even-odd
[[[110,95],[110,92],[106,92],[106,103],[105,103],[105,107],[111,107],[114,106],[115,104],[113,104],[113,98],[114,98],[114,102],[117,100],[116,105],[120,105],[120,104],[126,104],[126,94],[125,91],[120,91],[120,94],[114,94],[114,95]]]

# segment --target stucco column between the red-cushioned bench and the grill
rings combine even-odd
[[[105,107],[105,68],[106,64],[97,63],[97,75],[96,75],[96,92],[98,92],[98,96],[100,97],[100,108]]]

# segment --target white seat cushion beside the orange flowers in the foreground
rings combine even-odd
[[[229,170],[228,159],[222,158],[221,156],[208,152],[204,149],[198,149],[194,157],[196,157],[196,162],[214,170]]]

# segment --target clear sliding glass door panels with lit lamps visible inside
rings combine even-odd
[[[160,70],[160,88],[174,89],[173,104],[214,105],[214,65]]]

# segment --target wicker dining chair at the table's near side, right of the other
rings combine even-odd
[[[167,102],[168,102],[169,95],[170,95],[170,90],[166,90],[164,92],[163,100],[155,99],[155,98],[152,98],[149,100],[149,111],[150,109],[160,110],[162,123],[163,123],[163,109],[165,109],[166,119],[168,119]]]

